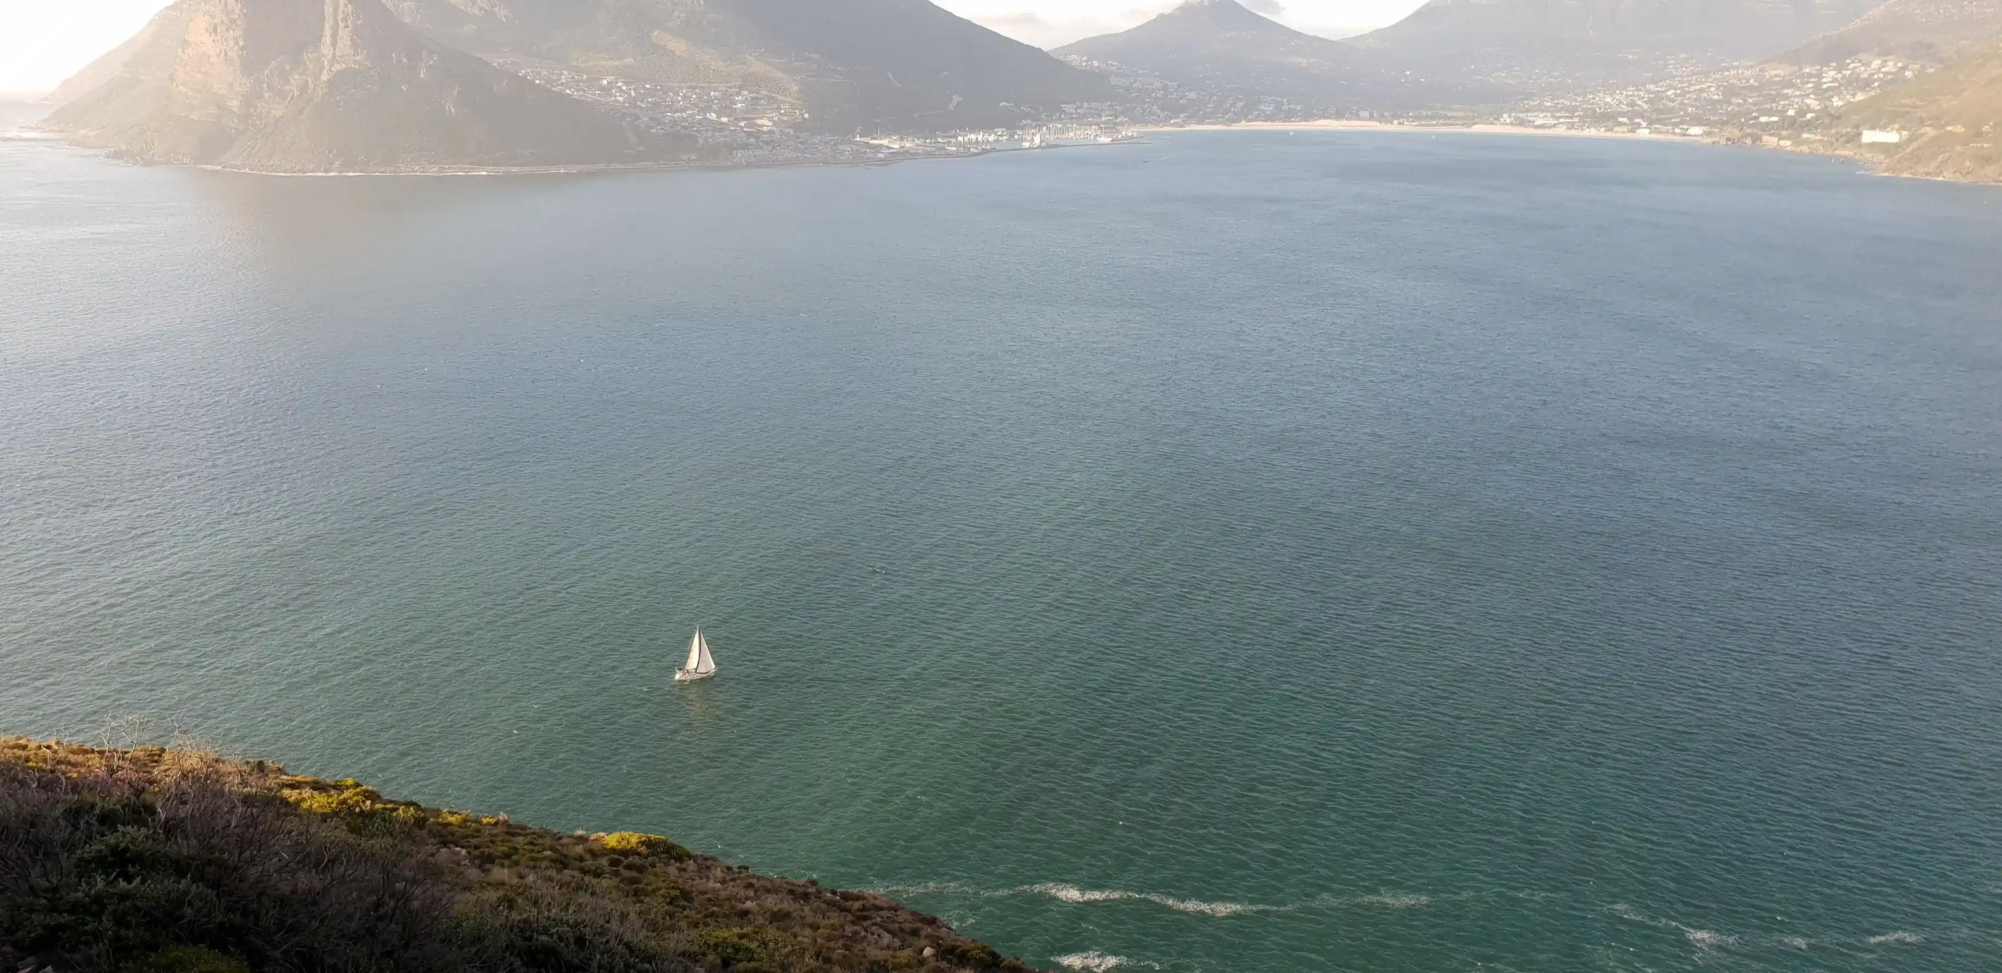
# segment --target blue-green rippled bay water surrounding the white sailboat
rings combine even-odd
[[[1998,266],[1998,190],[1678,144],[6,140],[0,733],[657,831],[1047,967],[1994,969]]]

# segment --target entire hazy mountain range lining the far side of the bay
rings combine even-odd
[[[64,84],[50,124],[132,158],[294,172],[855,160],[881,158],[853,150],[871,132],[951,154],[971,130],[1423,106],[1788,142],[1998,34],[2002,0],[1433,0],[1349,44],[1191,0],[1051,56],[925,0],[180,0]],[[1992,84],[1970,64],[1902,104],[1978,130]]]

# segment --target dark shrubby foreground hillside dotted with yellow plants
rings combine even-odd
[[[206,753],[0,739],[0,961],[60,971],[1021,971],[889,899]]]

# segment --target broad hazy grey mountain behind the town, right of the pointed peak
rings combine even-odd
[[[1353,44],[1415,70],[1514,84],[1624,80],[1766,58],[1882,0],[1429,0]]]

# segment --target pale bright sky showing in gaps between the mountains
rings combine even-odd
[[[1125,30],[1177,0],[937,0],[1029,44]],[[1299,30],[1341,36],[1395,22],[1423,0],[1243,0]],[[0,0],[0,92],[54,88],[138,32],[166,0]]]

